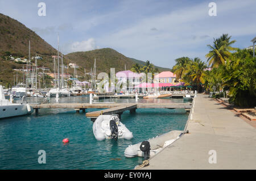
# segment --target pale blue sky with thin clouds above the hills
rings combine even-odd
[[[40,2],[46,15],[39,16]],[[209,3],[216,4],[210,16]],[[0,12],[23,23],[64,54],[113,48],[126,57],[172,68],[175,59],[207,61],[208,44],[223,33],[246,48],[256,36],[255,0],[0,0]],[[211,11],[212,12],[212,11]]]

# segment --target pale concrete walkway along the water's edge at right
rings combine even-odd
[[[187,130],[143,169],[256,169],[256,129],[207,95],[195,98]]]

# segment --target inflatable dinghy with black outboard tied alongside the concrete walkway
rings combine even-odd
[[[145,154],[149,154],[148,157],[152,157],[158,154],[159,151],[166,148],[166,146],[172,144],[174,141],[180,138],[182,133],[183,131],[174,130],[174,131],[170,131],[168,133],[162,134],[160,136],[151,138],[146,141],[148,142],[148,146],[146,146],[148,148],[147,150],[141,149],[145,141],[139,142],[138,144],[135,144],[135,145],[129,145],[125,149],[125,157],[127,158],[144,157]],[[146,153],[147,151],[150,153]]]

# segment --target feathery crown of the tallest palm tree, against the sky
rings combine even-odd
[[[213,46],[207,45],[210,48],[209,53],[205,56],[207,57],[207,62],[212,68],[217,68],[219,65],[224,65],[228,61],[231,53],[230,50],[236,50],[236,48],[231,47],[230,45],[235,43],[236,40],[230,41],[231,36],[228,34],[223,34],[218,39],[213,39]]]

